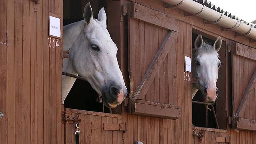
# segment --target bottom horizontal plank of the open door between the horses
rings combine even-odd
[[[136,100],[135,103],[132,103],[132,106],[133,114],[169,119],[177,119],[181,117],[181,110],[179,106],[148,102],[144,100]]]

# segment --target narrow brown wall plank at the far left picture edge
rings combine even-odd
[[[7,22],[6,0],[0,1],[0,144],[7,144]]]

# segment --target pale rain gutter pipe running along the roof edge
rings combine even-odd
[[[239,36],[247,36],[256,40],[256,28],[244,24],[241,21],[234,20],[220,12],[217,12],[207,6],[199,4],[193,0],[161,0],[166,4],[171,6],[178,7],[181,10],[184,10],[190,14],[194,14],[208,20],[214,24],[218,24],[226,28],[227,30],[232,30],[238,33]],[[237,34],[236,34],[237,35]]]

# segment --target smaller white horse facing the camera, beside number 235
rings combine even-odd
[[[218,79],[218,72],[221,66],[217,53],[221,47],[220,36],[214,42],[213,46],[203,42],[202,34],[197,36],[195,41],[195,48],[193,48],[193,77],[197,78],[197,82],[193,83],[193,94],[201,90],[205,102],[214,102],[218,96],[218,88],[216,82]]]

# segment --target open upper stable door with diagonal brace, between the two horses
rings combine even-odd
[[[178,20],[140,4],[128,6],[130,113],[181,117],[177,106]]]

